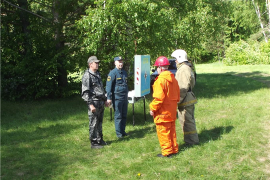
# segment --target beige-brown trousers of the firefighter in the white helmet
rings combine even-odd
[[[194,145],[199,143],[194,118],[194,109],[194,104],[186,107],[178,107],[178,118],[183,130],[184,142],[187,145]]]

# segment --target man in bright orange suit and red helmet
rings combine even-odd
[[[149,104],[161,146],[158,157],[171,157],[178,152],[175,120],[180,90],[173,73],[167,70],[168,65],[169,61],[165,56],[158,57],[154,63],[159,75],[154,81],[153,100]]]

